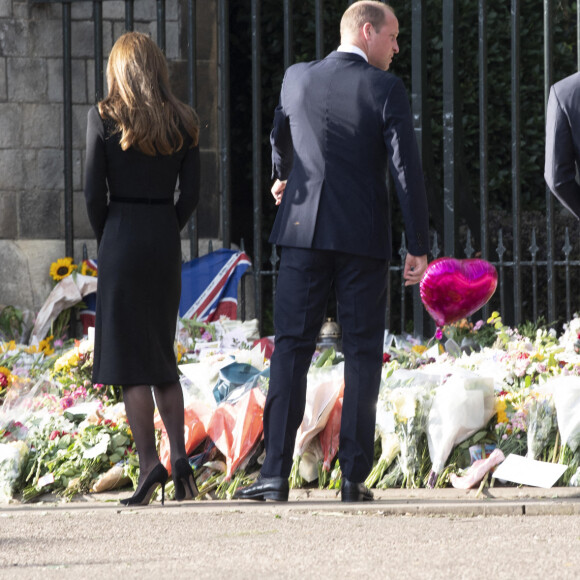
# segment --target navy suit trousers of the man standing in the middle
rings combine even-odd
[[[264,409],[264,477],[288,477],[304,416],[306,376],[336,291],[345,357],[338,457],[343,477],[362,482],[373,465],[388,261],[329,250],[284,247],[274,310],[275,349]]]

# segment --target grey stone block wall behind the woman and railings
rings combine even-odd
[[[125,3],[103,0],[105,59],[125,30]],[[166,2],[166,54],[176,93],[187,100],[186,2]],[[60,2],[0,0],[0,305],[37,311],[52,282],[50,264],[65,254],[63,48]],[[93,2],[72,15],[74,259],[96,243],[83,197],[87,111],[95,103]],[[201,118],[200,253],[219,244],[217,193],[216,0],[197,2],[197,110]],[[157,38],[156,1],[134,3],[134,28]],[[106,61],[105,61],[106,67]],[[106,90],[106,89],[105,89]],[[184,259],[189,241],[184,232]]]

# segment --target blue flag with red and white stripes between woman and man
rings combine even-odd
[[[225,316],[235,320],[238,283],[251,266],[244,252],[222,248],[181,267],[179,316],[211,322]]]

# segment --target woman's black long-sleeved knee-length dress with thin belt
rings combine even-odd
[[[186,136],[177,153],[152,157],[123,151],[119,140],[91,108],[85,198],[99,245],[93,382],[159,385],[178,380],[180,231],[199,198],[199,149]]]

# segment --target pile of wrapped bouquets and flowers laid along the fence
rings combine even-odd
[[[445,326],[429,341],[387,334],[367,485],[493,485],[494,466],[512,453],[567,465],[557,485],[579,485],[579,333],[578,316],[558,332],[512,329],[493,313]],[[185,438],[201,498],[230,498],[259,473],[271,351],[256,321],[180,322]],[[121,389],[92,384],[92,360],[88,337],[34,346],[0,340],[1,502],[135,486],[138,457]],[[343,376],[340,352],[315,354],[292,487],[340,488]],[[158,415],[156,426],[169,468]]]

